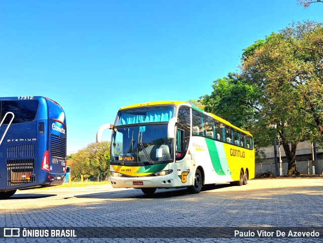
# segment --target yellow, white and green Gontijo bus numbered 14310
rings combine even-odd
[[[229,182],[246,185],[254,177],[252,135],[228,121],[181,101],[120,108],[112,130],[111,183],[114,188],[188,188]]]

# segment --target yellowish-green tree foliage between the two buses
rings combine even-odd
[[[105,180],[110,175],[110,142],[91,143],[86,148],[69,156],[72,180],[86,178]]]

